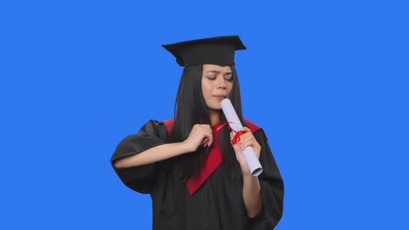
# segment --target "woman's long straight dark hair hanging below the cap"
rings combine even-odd
[[[234,65],[233,72],[233,89],[229,95],[233,107],[236,110],[241,123],[245,125],[243,114],[241,111],[241,96],[240,87],[238,85],[238,77]],[[227,120],[223,111],[220,109],[220,123],[225,123]],[[186,140],[195,124],[209,124],[210,114],[209,108],[202,94],[202,64],[185,67],[180,79],[179,89],[175,102],[175,116],[173,128],[170,137],[170,142],[182,142]],[[232,178],[237,178],[240,175],[240,167],[236,160],[234,149],[230,142],[230,131],[223,128],[218,133],[218,147],[223,154],[223,164],[225,164],[232,172]],[[216,140],[214,140],[215,142]],[[207,148],[200,146],[194,153],[182,154],[172,159],[173,169],[181,181],[186,181],[191,177],[198,177],[200,168],[204,163],[204,157],[208,153]]]

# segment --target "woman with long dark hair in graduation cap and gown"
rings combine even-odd
[[[164,48],[184,67],[175,116],[150,120],[121,141],[111,159],[114,170],[129,188],[150,193],[153,229],[273,229],[284,185],[263,130],[242,116],[234,52],[245,46],[238,36],[225,36]],[[245,126],[235,144],[227,126],[220,127],[225,98]],[[259,177],[243,159],[247,146],[263,166]]]

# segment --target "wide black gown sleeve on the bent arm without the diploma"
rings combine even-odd
[[[163,145],[168,139],[168,131],[162,122],[148,121],[137,134],[127,136],[119,143],[111,158],[111,164],[123,184],[139,193],[150,193],[159,174],[159,162],[128,168],[116,168],[114,161],[133,154],[138,154],[158,145]]]

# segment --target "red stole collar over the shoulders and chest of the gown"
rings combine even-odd
[[[261,130],[264,134],[263,129],[261,127],[254,125],[251,121],[248,121],[247,119],[244,119],[247,127],[252,131],[252,133],[256,132],[257,130]],[[173,126],[173,118],[170,118],[166,121],[163,121],[163,123],[166,126],[166,129],[168,129],[168,134],[169,136],[171,135],[172,132],[172,126]],[[210,146],[210,152],[207,154],[207,157],[204,159],[204,166],[200,169],[200,175],[198,178],[191,178],[186,182],[186,186],[189,190],[189,193],[193,195],[195,191],[197,191],[200,186],[204,182],[206,182],[206,179],[210,177],[210,175],[216,170],[218,166],[220,166],[220,163],[223,162],[223,154],[220,152],[220,149],[218,148],[218,145],[216,143],[217,141],[217,135],[218,132],[216,131],[217,127],[220,126],[220,123],[217,123],[214,125],[214,127],[211,127],[213,130],[213,143]],[[224,128],[224,127],[223,127]],[[226,127],[227,128],[227,127]],[[238,131],[238,130],[237,130]],[[266,134],[264,134],[266,136]]]

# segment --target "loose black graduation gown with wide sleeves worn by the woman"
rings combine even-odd
[[[134,191],[149,193],[153,204],[153,230],[244,230],[273,229],[281,219],[284,184],[272,157],[266,136],[254,132],[261,145],[259,175],[263,210],[255,218],[248,218],[243,201],[243,182],[232,182],[222,163],[193,195],[185,183],[179,182],[166,161],[143,166],[115,168],[122,182]],[[123,139],[117,146],[111,163],[121,157],[137,154],[165,144],[168,130],[162,122],[150,120],[137,134]],[[216,144],[216,143],[214,143]]]

